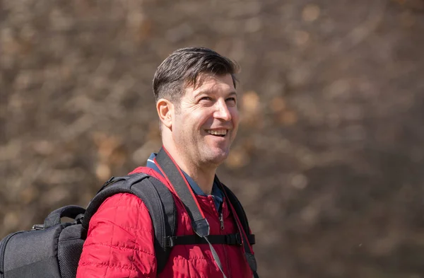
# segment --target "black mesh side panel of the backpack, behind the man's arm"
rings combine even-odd
[[[57,249],[61,278],[75,278],[78,262],[83,252],[84,241],[81,238],[61,241]]]

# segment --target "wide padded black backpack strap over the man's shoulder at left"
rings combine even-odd
[[[147,175],[136,173],[124,177],[112,177],[93,197],[86,209],[83,219],[84,237],[88,231],[91,217],[108,197],[118,193],[129,193],[139,197],[146,205],[153,222],[155,231],[155,257],[160,273],[166,265],[171,248],[167,247],[166,240],[175,236],[177,231],[177,212],[174,198],[170,190],[160,180]]]

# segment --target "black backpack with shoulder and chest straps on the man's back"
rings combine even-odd
[[[242,205],[234,194],[223,185],[228,201],[240,219],[249,244],[254,244],[254,235],[249,232],[249,224]],[[44,224],[33,226],[30,231],[11,233],[0,241],[0,278],[74,278],[78,261],[87,235],[91,216],[100,204],[112,195],[127,192],[141,198],[148,208],[155,231],[155,256],[158,273],[163,270],[174,245],[220,243],[242,245],[240,233],[228,235],[175,236],[176,209],[174,199],[168,188],[159,180],[138,173],[124,177],[112,177],[102,186],[98,194],[88,204],[87,209],[74,205],[54,210]],[[61,223],[62,217],[73,219]],[[247,260],[257,277],[256,262],[253,255]]]

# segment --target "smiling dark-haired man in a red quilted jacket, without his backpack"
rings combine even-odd
[[[167,57],[153,79],[163,150],[194,192],[211,235],[237,233],[237,222],[223,202],[225,194],[215,175],[237,134],[236,71],[230,59],[189,47]],[[155,156],[131,173],[148,173],[172,191]],[[177,236],[193,235],[190,214],[175,192],[173,197]],[[243,247],[224,244],[176,245],[163,271],[157,273],[153,242],[146,205],[135,195],[114,195],[90,220],[77,278],[252,277]]]

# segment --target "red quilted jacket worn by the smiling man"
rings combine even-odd
[[[167,180],[151,168],[139,167],[131,173],[148,173],[170,188]],[[182,202],[172,195],[177,208],[177,236],[193,235],[189,215]],[[222,207],[224,230],[221,230],[213,198],[199,195],[196,198],[208,220],[211,235],[237,232],[226,202]],[[163,272],[156,274],[153,238],[151,218],[138,197],[123,193],[108,198],[90,221],[76,277],[223,277],[207,244],[176,245]],[[241,246],[214,244],[213,247],[228,278],[252,277]]]

